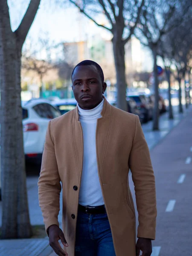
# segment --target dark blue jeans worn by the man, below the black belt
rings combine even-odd
[[[107,214],[78,212],[75,256],[115,256]]]

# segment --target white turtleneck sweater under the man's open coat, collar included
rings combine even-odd
[[[83,110],[78,106],[79,121],[83,130],[83,169],[79,191],[79,204],[83,206],[99,206],[104,204],[99,182],[96,157],[96,125],[102,117],[103,101],[91,110]]]

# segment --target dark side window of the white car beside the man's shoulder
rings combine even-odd
[[[41,103],[33,107],[38,116],[47,119],[53,119],[61,114],[52,105],[48,103]]]

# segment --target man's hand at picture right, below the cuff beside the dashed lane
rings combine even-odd
[[[136,256],[140,256],[140,250],[143,252],[142,256],[151,256],[152,244],[151,239],[139,238],[136,244]]]

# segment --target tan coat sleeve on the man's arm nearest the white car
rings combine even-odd
[[[44,218],[45,229],[58,223],[61,184],[55,157],[55,145],[51,138],[51,121],[47,128],[41,172],[38,180],[39,205]],[[48,234],[48,232],[47,232]]]

